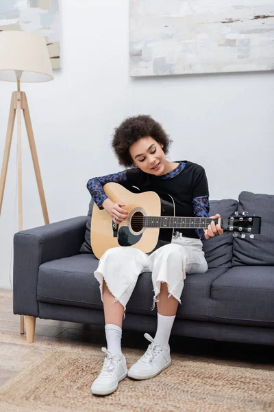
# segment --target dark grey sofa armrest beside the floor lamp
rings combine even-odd
[[[87,216],[20,231],[14,235],[13,312],[38,317],[39,266],[77,255],[84,240]]]

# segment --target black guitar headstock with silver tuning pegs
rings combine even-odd
[[[245,238],[249,236],[251,239],[254,235],[261,233],[261,220],[260,216],[247,216],[248,212],[244,211],[242,215],[235,212],[234,216],[222,219],[222,227],[227,231],[233,232],[233,236],[237,238]]]

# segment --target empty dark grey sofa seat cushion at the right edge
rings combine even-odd
[[[209,319],[274,327],[274,267],[238,266],[212,282]]]

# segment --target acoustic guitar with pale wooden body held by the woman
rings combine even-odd
[[[260,233],[261,218],[242,216],[235,212],[228,218],[197,218],[175,216],[175,203],[172,196],[158,196],[155,192],[132,193],[119,183],[107,183],[103,186],[105,194],[114,203],[124,202],[123,209],[129,211],[127,220],[117,224],[108,212],[93,206],[90,225],[90,242],[92,251],[100,259],[103,253],[112,247],[135,247],[145,253],[155,249],[158,240],[171,242],[174,228],[198,229],[207,228],[214,220],[225,231],[234,236]]]

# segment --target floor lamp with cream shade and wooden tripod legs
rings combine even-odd
[[[23,207],[22,207],[22,146],[21,146],[21,111],[25,119],[29,148],[32,153],[34,171],[42,214],[45,225],[49,223],[45,193],[42,186],[42,178],[32,130],[32,122],[27,105],[27,96],[20,90],[21,82],[47,82],[53,80],[53,72],[49,52],[45,38],[21,31],[0,32],[0,80],[17,82],[17,91],[12,93],[10,103],[10,115],[8,119],[8,130],[5,139],[5,149],[0,178],[0,214],[5,190],[5,179],[10,158],[10,146],[12,144],[12,134],[14,122],[17,114],[17,168],[18,168],[18,223],[19,231],[23,230]],[[30,321],[26,317],[26,322]],[[20,332],[24,333],[24,317],[21,315]]]

